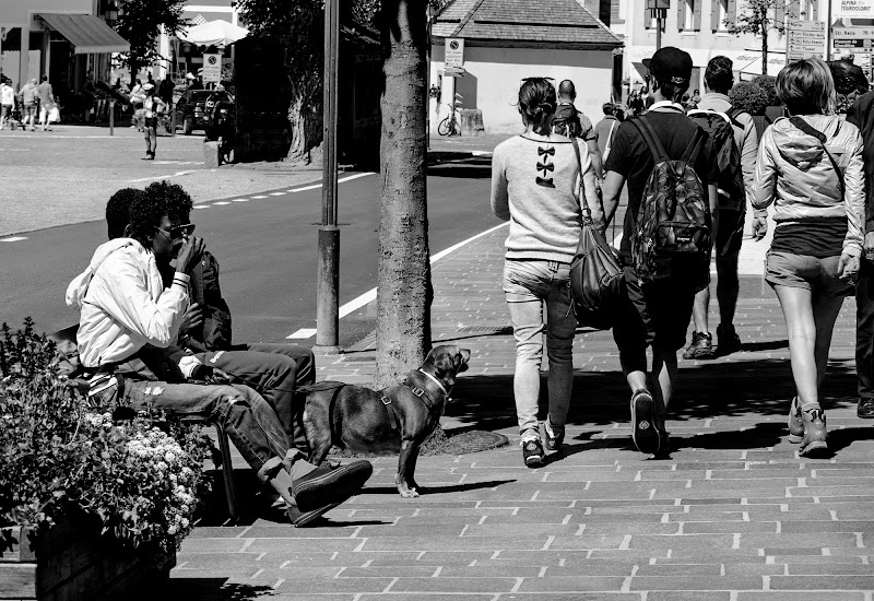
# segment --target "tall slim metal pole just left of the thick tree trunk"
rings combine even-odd
[[[321,227],[316,298],[316,346],[339,351],[340,228],[336,226],[336,97],[340,54],[339,0],[324,2],[324,86]]]

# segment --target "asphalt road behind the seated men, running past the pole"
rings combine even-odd
[[[432,166],[428,221],[432,255],[500,222],[488,203],[491,157]],[[197,233],[222,266],[222,292],[234,316],[238,342],[281,342],[302,328],[316,327],[317,235],[321,190],[279,192],[247,202],[199,204]],[[379,177],[367,175],[339,187],[340,304],[376,287]],[[74,323],[64,306],[69,281],[106,239],[103,222],[40,229],[26,239],[0,243],[0,321],[19,326],[25,316],[37,329],[55,331]],[[340,323],[347,346],[374,329],[373,309],[363,308]],[[299,341],[315,343],[315,338]]]

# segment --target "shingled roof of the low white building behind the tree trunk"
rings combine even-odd
[[[581,0],[580,0],[581,1]],[[437,38],[538,46],[622,46],[578,0],[452,0],[432,27]]]

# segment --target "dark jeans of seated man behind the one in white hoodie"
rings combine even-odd
[[[292,446],[309,452],[303,424],[304,401],[295,390],[316,381],[312,351],[297,344],[239,344],[231,351],[198,353],[210,367],[231,376],[231,384],[253,388],[270,403]],[[296,401],[296,402],[295,402]]]

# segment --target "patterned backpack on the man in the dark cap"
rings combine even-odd
[[[693,168],[705,133],[696,128],[686,152],[670,158],[646,116],[631,119],[656,166],[643,187],[631,232],[631,262],[641,281],[699,275],[710,263],[711,216],[707,190]],[[695,278],[695,284],[699,282]]]

